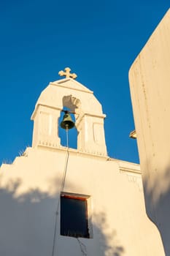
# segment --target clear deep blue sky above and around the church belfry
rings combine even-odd
[[[31,146],[39,94],[71,67],[101,102],[109,157],[139,162],[128,70],[168,0],[1,1],[1,162]]]

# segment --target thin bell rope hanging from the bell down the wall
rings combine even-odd
[[[59,214],[59,205],[60,205],[60,195],[61,192],[64,189],[64,185],[65,185],[65,181],[66,181],[66,171],[67,171],[67,165],[69,162],[69,129],[68,127],[66,127],[66,159],[65,159],[65,165],[64,165],[64,171],[63,171],[63,178],[61,181],[61,189],[59,192],[59,198],[58,198],[58,204],[57,204],[57,208],[56,208],[56,212],[55,212],[55,225],[54,225],[54,236],[53,236],[53,251],[52,251],[52,256],[57,255],[57,251],[56,251],[56,234],[57,234],[57,227],[58,227],[58,214]]]

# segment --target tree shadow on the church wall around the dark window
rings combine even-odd
[[[0,189],[0,255],[51,256],[58,197],[34,190],[15,198],[18,186],[19,181],[10,185],[10,192]],[[102,231],[107,225],[105,214],[95,219],[93,239],[59,236],[55,255],[122,256],[123,247],[116,245],[116,233],[105,235]]]

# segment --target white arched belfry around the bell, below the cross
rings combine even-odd
[[[107,156],[101,104],[90,91],[72,78],[50,83],[42,91],[31,119],[34,120],[33,147],[61,148],[58,136],[63,107],[74,112],[77,151]]]

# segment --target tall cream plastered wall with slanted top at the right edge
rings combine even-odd
[[[147,215],[170,255],[170,10],[129,71]]]

